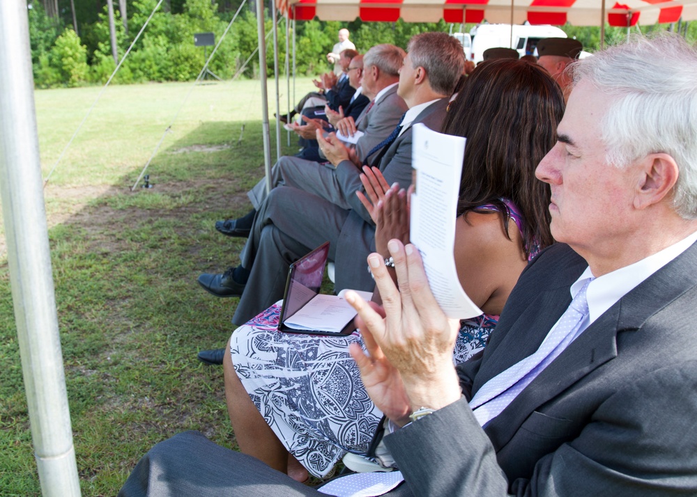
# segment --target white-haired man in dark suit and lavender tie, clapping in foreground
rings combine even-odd
[[[560,243],[530,262],[479,358],[453,367],[457,327],[415,247],[390,242],[400,292],[370,255],[385,317],[346,297],[374,339],[353,352],[392,421],[405,483],[390,495],[697,494],[695,74],[677,36],[579,62],[537,169]],[[144,488],[323,495],[195,432],[155,446],[122,495]]]

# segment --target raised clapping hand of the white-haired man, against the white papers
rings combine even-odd
[[[377,253],[368,256],[368,264],[383,300],[385,317],[376,313],[355,292],[346,292],[346,301],[358,312],[365,324],[363,329],[369,330],[384,354],[381,363],[388,363],[395,370],[390,373],[392,384],[396,383],[395,375],[399,373],[409,410],[420,407],[440,409],[461,397],[452,364],[459,323],[457,319],[448,319],[438,307],[416,247],[411,244],[405,247],[399,240],[392,239],[388,248],[395,260],[399,290],[392,282],[382,256]],[[370,372],[366,361],[360,361],[358,365],[361,377]],[[385,381],[383,379],[381,384]],[[366,388],[373,402],[381,407],[378,388],[369,388],[367,384]],[[395,416],[390,419],[404,425],[405,418],[399,413],[400,409],[395,405],[388,407],[390,411],[383,412],[390,412],[388,416]]]

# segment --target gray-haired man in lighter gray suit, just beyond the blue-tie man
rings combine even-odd
[[[363,92],[372,97],[372,104],[365,107],[355,121],[347,116],[337,125],[339,129],[350,127],[363,133],[355,145],[356,156],[361,160],[390,135],[407,109],[404,99],[397,95],[399,68],[404,63],[404,55],[401,48],[384,44],[372,47],[363,58],[362,87]],[[281,157],[274,164],[270,181],[272,188],[286,184],[326,198],[336,197],[335,176],[333,167],[291,156]],[[262,178],[247,196],[254,207],[252,211],[240,219],[217,221],[216,230],[231,237],[249,236],[256,209],[266,199],[266,178]],[[345,203],[341,205],[346,207]]]

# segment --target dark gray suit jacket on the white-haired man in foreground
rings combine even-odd
[[[464,398],[385,437],[413,494],[697,495],[697,245],[608,309],[484,431],[468,407],[535,352],[587,266],[564,244],[541,253],[483,356],[458,367]]]

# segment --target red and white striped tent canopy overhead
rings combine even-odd
[[[514,0],[513,23],[599,26],[604,0]],[[620,3],[621,2],[621,3]],[[291,19],[323,21],[511,22],[511,0],[276,0]],[[697,19],[697,0],[608,0],[611,26]]]

